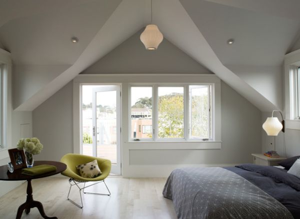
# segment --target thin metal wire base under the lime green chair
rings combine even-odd
[[[69,188],[69,192],[68,192],[68,194],[67,194],[67,200],[68,200],[70,203],[72,203],[73,205],[75,205],[75,206],[77,206],[78,208],[80,208],[80,209],[83,208],[82,197],[81,197],[81,191],[83,192],[83,194],[92,194],[92,195],[100,195],[100,196],[110,196],[110,195],[111,195],[111,193],[110,193],[110,191],[109,191],[109,189],[108,189],[106,183],[104,182],[104,180],[99,181],[99,182],[96,182],[96,183],[91,184],[91,185],[88,185],[88,186],[85,186],[85,183],[88,182],[88,181],[77,181],[77,182],[76,182],[74,179],[70,178],[68,182],[69,182],[69,184],[70,184],[70,188]],[[96,184],[98,184],[98,183],[102,183],[102,182],[104,183],[104,185],[105,185],[105,187],[106,187],[106,189],[107,189],[107,191],[108,191],[108,194],[102,194],[102,193],[87,193],[87,192],[84,192],[84,189],[86,189],[86,188],[88,188],[88,187],[91,187],[91,186],[94,186],[94,185],[96,185]],[[81,188],[79,187],[79,184],[80,184],[80,183],[83,183],[83,187],[81,187]],[[73,200],[71,200],[71,199],[69,198],[69,195],[70,195],[72,186],[76,186],[76,187],[79,189],[79,195],[80,195],[81,206],[80,206],[79,204],[75,203]]]

